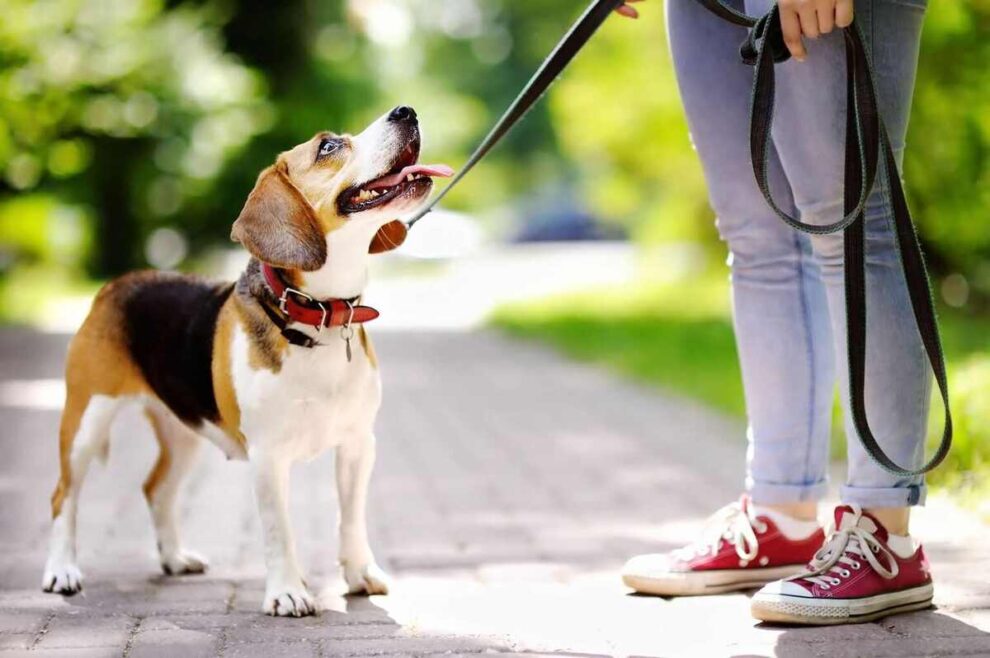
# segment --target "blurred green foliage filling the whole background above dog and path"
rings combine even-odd
[[[46,212],[71,209],[87,233],[74,258],[91,274],[143,265],[160,228],[195,256],[227,244],[258,171],[318,130],[353,131],[407,103],[425,157],[463,162],[583,5],[7,0],[0,206],[30,192],[48,197]],[[609,21],[447,205],[504,227],[548,198],[721,260],[662,8]],[[946,299],[976,309],[990,299],[987,61],[990,0],[931,3],[905,174]],[[72,260],[25,241],[62,221],[38,207],[23,219],[38,226],[4,225],[0,276]]]

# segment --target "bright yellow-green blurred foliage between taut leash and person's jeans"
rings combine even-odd
[[[661,7],[644,7],[642,24],[607,24],[553,90],[554,126],[597,214],[629,225],[645,243],[714,243],[701,167],[655,20]]]

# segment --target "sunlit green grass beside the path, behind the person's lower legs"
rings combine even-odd
[[[492,323],[575,359],[745,415],[722,275],[515,303],[497,309]],[[940,324],[956,431],[952,453],[931,481],[980,504],[990,493],[990,318],[942,310]],[[930,445],[942,427],[937,409],[936,402]],[[838,411],[833,425],[833,454],[841,457]]]

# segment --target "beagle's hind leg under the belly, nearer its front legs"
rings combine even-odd
[[[158,461],[144,481],[144,497],[155,524],[162,571],[169,576],[203,573],[206,560],[183,548],[176,519],[179,489],[195,463],[201,439],[156,403],[147,405],[144,413],[158,439]]]

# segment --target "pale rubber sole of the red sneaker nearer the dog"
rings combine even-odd
[[[639,594],[702,596],[763,587],[775,580],[796,576],[805,569],[803,564],[794,564],[758,569],[673,572],[663,577],[623,574],[622,582]]]

